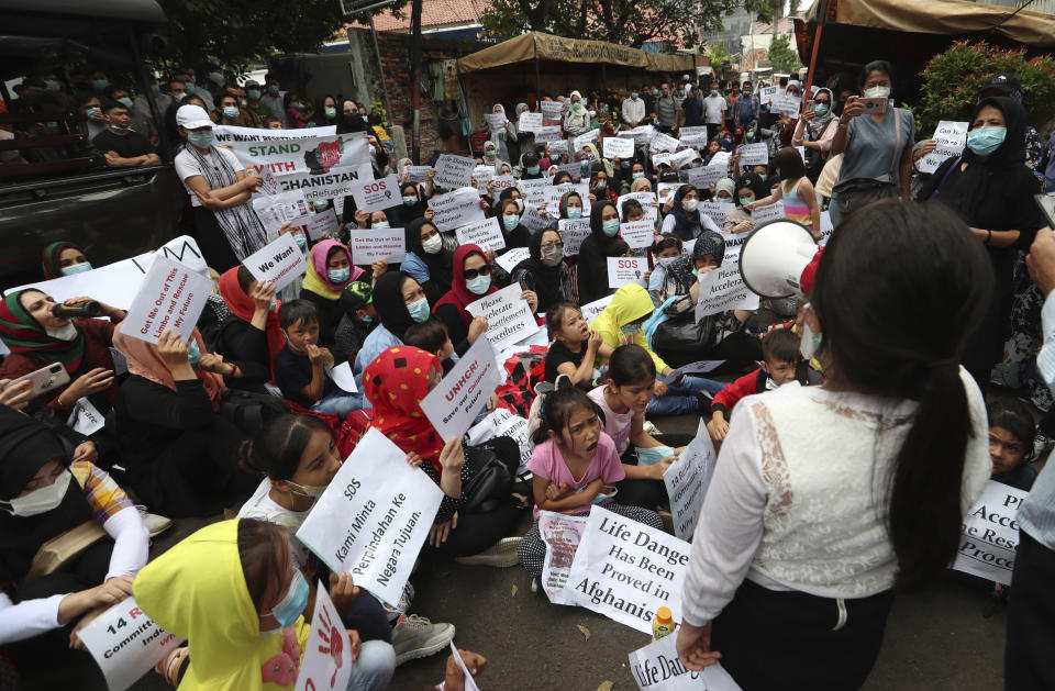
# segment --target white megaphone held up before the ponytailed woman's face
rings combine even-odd
[[[801,223],[770,221],[759,225],[740,250],[740,274],[763,298],[802,296],[802,269],[817,254],[817,241]]]

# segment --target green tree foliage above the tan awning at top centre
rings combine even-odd
[[[673,40],[696,46],[698,31],[721,29],[737,0],[495,0],[481,34],[507,41],[528,31],[633,47]]]

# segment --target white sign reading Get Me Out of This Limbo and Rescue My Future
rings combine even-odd
[[[168,328],[187,343],[211,292],[212,281],[207,276],[158,257],[121,322],[121,333],[156,344]]]

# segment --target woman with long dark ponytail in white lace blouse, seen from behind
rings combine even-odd
[[[806,315],[828,380],[744,399],[722,445],[682,590],[687,667],[720,658],[744,691],[865,682],[895,589],[944,571],[992,467],[959,366],[992,285],[940,205],[840,226]]]

